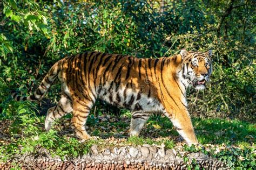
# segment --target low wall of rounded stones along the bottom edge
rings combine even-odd
[[[184,162],[184,157],[187,158],[186,162]],[[228,169],[223,162],[203,153],[165,150],[147,144],[137,147],[105,148],[101,151],[93,145],[91,153],[65,160],[51,158],[46,150],[42,150],[38,155],[21,155],[5,164],[0,164],[0,169],[9,169],[13,162],[23,169],[187,169],[193,159],[200,169],[203,167],[205,169]]]

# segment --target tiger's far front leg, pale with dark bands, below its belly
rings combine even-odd
[[[139,136],[144,124],[149,119],[149,114],[143,111],[132,112],[130,136]]]

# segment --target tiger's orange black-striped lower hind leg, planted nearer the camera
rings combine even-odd
[[[75,131],[76,136],[82,140],[91,139],[92,137],[85,130],[85,123],[90,114],[94,101],[77,100],[73,105],[73,117],[71,119],[71,128]]]

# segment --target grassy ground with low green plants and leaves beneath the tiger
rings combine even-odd
[[[173,129],[171,121],[163,116],[152,116],[144,126],[140,137],[129,137],[131,114],[122,111],[119,117],[100,114],[91,115],[87,120],[87,131],[98,140],[81,143],[71,130],[69,123],[71,115],[57,121],[53,128],[44,131],[45,116],[36,114],[36,104],[30,102],[2,103],[3,114],[0,115],[1,131],[7,136],[1,139],[0,160],[12,159],[15,154],[37,154],[42,148],[53,156],[62,159],[77,157],[90,152],[93,144],[100,148],[123,145],[165,145],[166,149],[183,145],[184,151],[205,152],[228,164],[230,167],[255,166],[255,124],[238,120],[192,118],[192,122],[201,144],[210,150],[187,147],[180,143],[179,134]],[[208,146],[207,144],[211,144]],[[222,147],[219,152],[216,148]]]

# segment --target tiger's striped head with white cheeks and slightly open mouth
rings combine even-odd
[[[193,86],[197,90],[205,89],[205,83],[212,73],[212,50],[205,53],[180,51],[182,61],[181,81],[185,86]]]

